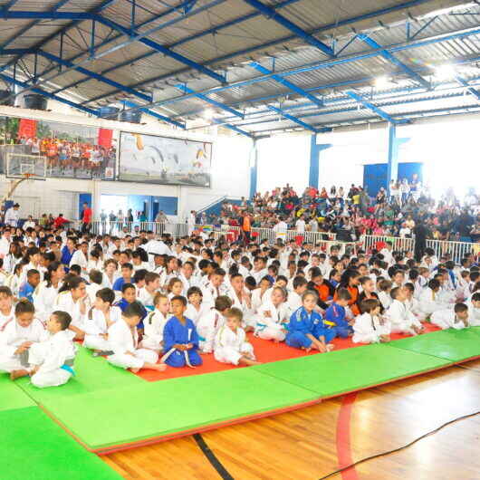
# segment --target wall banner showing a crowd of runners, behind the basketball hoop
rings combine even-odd
[[[114,180],[117,139],[109,129],[0,117],[2,173],[9,173],[5,172],[7,155],[10,161],[28,158],[30,162],[35,156],[39,161],[46,158],[47,178]]]

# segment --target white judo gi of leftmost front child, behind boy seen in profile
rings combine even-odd
[[[48,332],[40,320],[34,319],[26,328],[15,320],[6,323],[0,332],[0,371],[29,370],[28,350],[24,354],[16,354],[15,351],[25,341],[35,343],[45,340],[48,340]]]

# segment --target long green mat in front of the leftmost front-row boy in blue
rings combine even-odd
[[[182,432],[318,398],[252,369],[136,387],[43,398],[43,406],[91,449]]]

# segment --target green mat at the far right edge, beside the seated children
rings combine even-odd
[[[418,337],[392,341],[389,345],[440,359],[462,361],[480,355],[480,327],[433,331]]]

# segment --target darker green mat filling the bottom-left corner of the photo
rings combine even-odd
[[[119,480],[40,408],[0,412],[0,478],[5,480]]]

